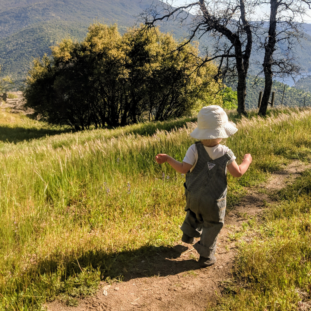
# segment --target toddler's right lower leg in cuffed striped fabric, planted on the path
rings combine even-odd
[[[216,252],[217,236],[224,225],[223,221],[204,221],[201,239],[193,247],[205,258],[211,258]]]

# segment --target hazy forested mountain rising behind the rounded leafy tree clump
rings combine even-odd
[[[1,75],[11,75],[19,87],[34,57],[50,54],[49,47],[64,38],[82,40],[88,26],[94,21],[117,23],[123,33],[137,22],[137,16],[157,0],[1,0],[0,1],[0,65]],[[177,23],[163,23],[161,31],[171,31],[175,38],[188,35],[187,27]],[[311,34],[311,25],[306,25]],[[311,37],[297,45],[295,57],[305,71],[311,72]],[[199,48],[209,47],[212,39],[200,39]],[[253,53],[250,74],[257,74],[261,67],[254,63],[263,54]]]

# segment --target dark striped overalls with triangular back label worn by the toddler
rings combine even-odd
[[[216,252],[217,236],[224,225],[227,195],[227,163],[233,153],[212,160],[201,142],[196,142],[197,164],[186,174],[185,196],[187,211],[181,226],[183,233],[201,237],[194,244],[197,252],[211,258]]]

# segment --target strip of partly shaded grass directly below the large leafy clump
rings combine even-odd
[[[94,139],[105,140],[126,135],[149,136],[156,131],[171,131],[174,128],[183,127],[188,122],[196,120],[196,117],[183,117],[166,122],[138,123],[116,129],[104,128],[72,132],[72,129],[69,127],[51,126],[42,121],[32,120],[22,114],[2,111],[0,112],[0,151],[7,152],[12,151],[14,148],[17,150],[42,144],[60,148],[71,146],[74,143],[83,144]]]

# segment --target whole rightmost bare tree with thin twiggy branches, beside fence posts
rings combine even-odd
[[[257,34],[257,38],[261,40],[259,48],[265,51],[262,64],[265,88],[258,114],[266,115],[272,78],[295,78],[299,75],[300,66],[295,58],[295,49],[297,46],[300,47],[300,40],[304,39],[302,23],[311,2],[309,0],[270,0],[262,3],[270,4],[268,20],[262,19],[263,25],[268,24],[268,33]]]

